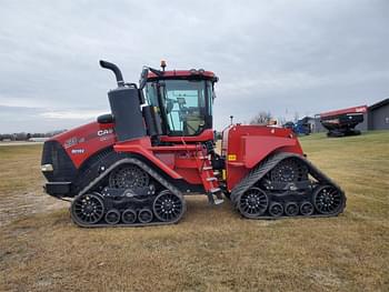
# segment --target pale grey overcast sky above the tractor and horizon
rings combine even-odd
[[[0,0],[0,132],[71,128],[108,112],[116,62],[220,78],[216,128],[233,114],[300,117],[389,97],[389,1]]]

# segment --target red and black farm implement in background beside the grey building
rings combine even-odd
[[[367,105],[348,108],[320,113],[320,122],[328,130],[328,137],[345,137],[360,134],[355,128],[363,122]]]

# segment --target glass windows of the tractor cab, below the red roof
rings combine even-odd
[[[211,90],[211,82],[206,80],[163,80],[148,82],[146,98],[159,108],[169,135],[196,135],[212,127]]]

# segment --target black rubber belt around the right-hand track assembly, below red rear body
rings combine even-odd
[[[337,217],[340,214],[343,209],[346,208],[346,195],[345,192],[340,189],[340,187],[335,183],[329,177],[327,177],[325,173],[322,173],[318,168],[316,168],[310,161],[308,161],[305,157],[300,154],[295,153],[276,153],[268,158],[266,158],[263,161],[261,161],[257,167],[255,167],[247,177],[245,177],[243,180],[241,180],[240,183],[238,183],[231,191],[231,202],[233,202],[235,207],[238,209],[238,202],[240,197],[249,190],[252,185],[255,185],[258,181],[260,181],[269,171],[271,171],[279,162],[281,162],[285,159],[289,158],[296,158],[302,161],[309,170],[309,174],[311,174],[320,184],[330,184],[333,188],[338,189],[339,192],[342,193],[342,197],[345,198],[343,205],[339,209],[338,212],[333,214],[312,214],[312,215],[296,215],[296,217],[288,217],[288,215],[281,215],[281,217],[269,217],[269,215],[260,215],[258,218],[247,218],[247,219],[282,219],[282,218],[328,218],[328,217]]]

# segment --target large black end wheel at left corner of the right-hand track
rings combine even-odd
[[[238,202],[240,213],[246,218],[257,218],[266,212],[269,205],[268,195],[258,188],[246,191]]]

